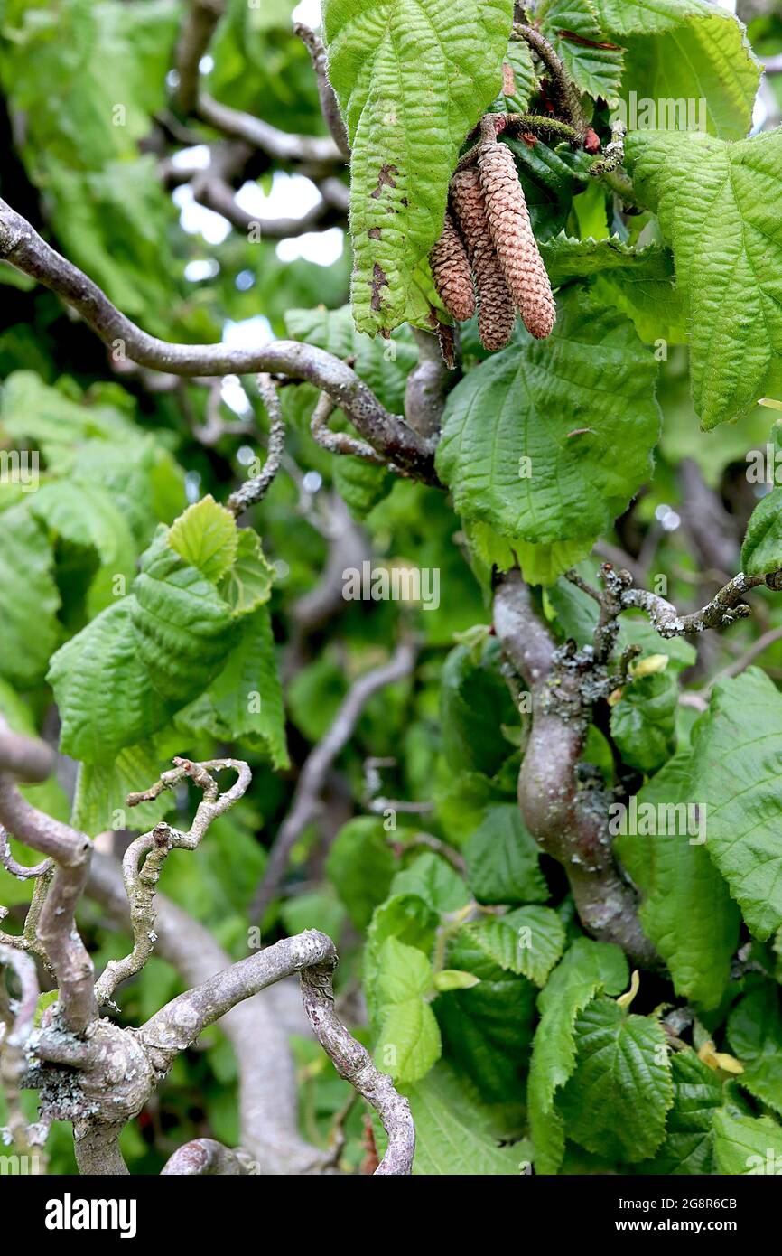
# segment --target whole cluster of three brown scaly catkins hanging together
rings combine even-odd
[[[507,144],[482,143],[476,165],[453,176],[451,208],[429,263],[441,300],[458,323],[472,318],[477,295],[485,349],[505,348],[517,309],[531,335],[550,334],[556,319],[551,284]]]

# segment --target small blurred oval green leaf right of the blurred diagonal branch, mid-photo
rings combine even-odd
[[[375,907],[388,896],[395,867],[382,820],[364,815],[339,830],[326,859],[326,875],[356,929],[367,928]]]

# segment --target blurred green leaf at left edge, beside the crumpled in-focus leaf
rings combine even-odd
[[[60,598],[54,554],[25,505],[0,522],[0,674],[26,688],[41,679],[56,646]],[[35,632],[30,627],[35,625]]]

